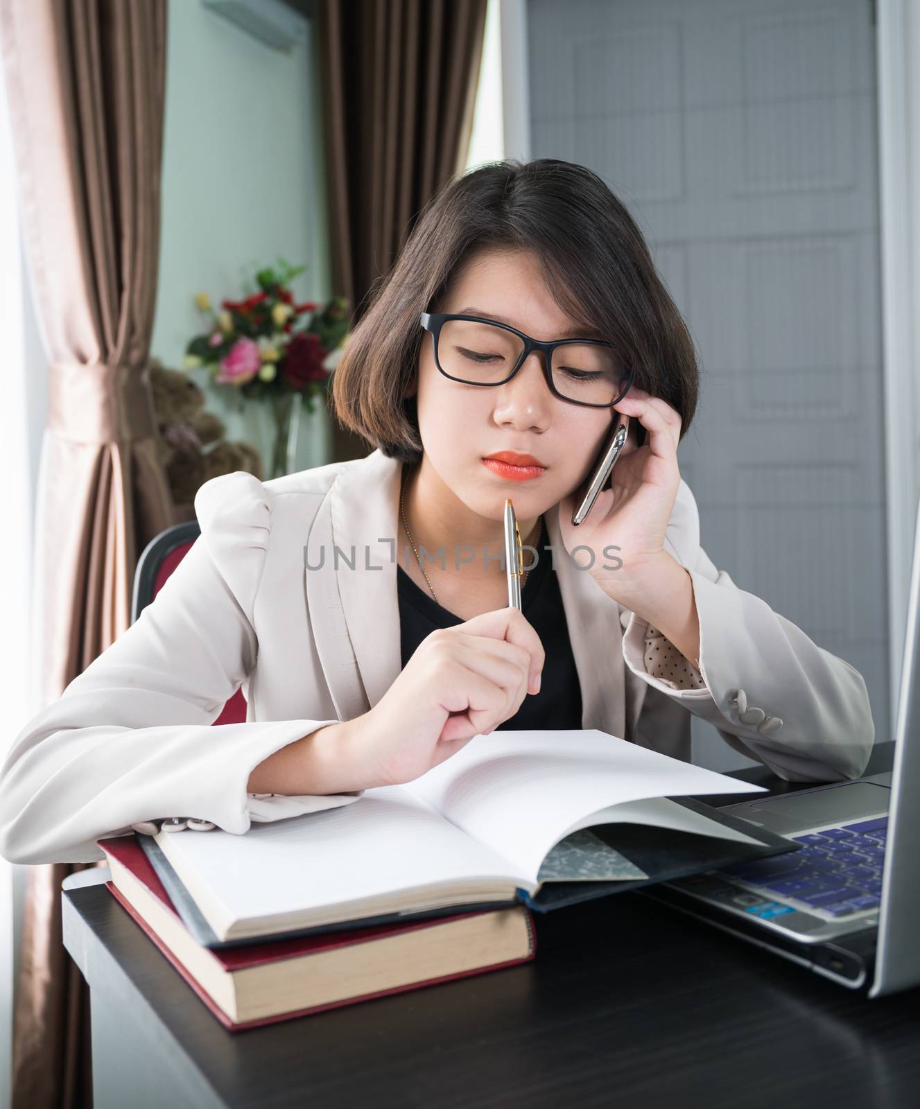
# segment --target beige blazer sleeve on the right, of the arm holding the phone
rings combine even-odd
[[[716,569],[700,546],[699,511],[683,479],[665,548],[690,574],[705,688],[678,689],[648,672],[649,625],[635,613],[628,614],[623,637],[630,671],[712,724],[730,747],[764,763],[778,777],[791,782],[859,777],[874,739],[862,675]],[[690,673],[696,668],[690,667]],[[656,702],[660,704],[658,696],[646,699],[640,720],[646,711],[655,711]]]

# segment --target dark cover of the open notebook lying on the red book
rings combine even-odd
[[[648,875],[647,878],[614,882],[547,882],[535,897],[530,897],[526,889],[518,888],[517,901],[536,913],[548,913],[550,909],[564,908],[566,905],[592,901],[595,897],[625,893],[627,889],[647,887],[657,882],[669,882],[673,878],[683,878],[704,871],[716,871],[731,863],[740,863],[749,858],[761,858],[799,849],[799,844],[785,836],[777,835],[775,832],[734,814],[721,812],[701,801],[689,797],[671,797],[669,800],[686,805],[687,808],[708,816],[719,824],[744,832],[751,838],[758,840],[761,846],[721,840],[718,836],[699,835],[695,832],[661,828],[650,824],[630,824],[625,821],[615,824],[596,824],[592,826],[594,834],[645,871]],[[204,835],[206,833],[178,832],[175,834]],[[266,937],[264,936],[247,939],[218,939],[156,841],[148,835],[139,835],[138,841],[156,872],[156,876],[169,893],[170,899],[182,917],[185,927],[203,947],[213,950],[265,942]],[[446,916],[448,913],[473,913],[514,904],[516,904],[514,901],[479,902],[462,906],[454,905],[449,908],[428,909],[424,913],[390,913],[384,916],[363,917],[357,920],[343,920],[334,925],[326,924],[285,932],[283,935],[285,938],[296,938],[323,933],[346,932],[372,925],[424,920],[429,917]]]

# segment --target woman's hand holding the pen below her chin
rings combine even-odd
[[[370,785],[411,782],[513,716],[539,690],[545,652],[514,607],[438,628],[381,700],[348,722]]]

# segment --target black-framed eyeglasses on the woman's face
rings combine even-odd
[[[509,324],[446,312],[423,312],[421,324],[431,332],[437,368],[463,385],[504,385],[532,350],[543,352],[549,391],[569,404],[609,408],[633,385],[633,368],[620,366],[614,347],[601,339],[542,343]]]

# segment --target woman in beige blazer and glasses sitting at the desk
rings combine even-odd
[[[593,342],[547,367],[523,336]],[[201,538],[155,601],[14,740],[0,854],[98,859],[97,838],[188,814],[243,833],[411,781],[495,728],[597,728],[689,761],[692,714],[783,779],[859,776],[861,675],[700,547],[677,462],[697,388],[684,322],[599,177],[539,160],[448,182],[336,369],[340,417],[376,449],[202,486]],[[627,416],[611,487],[575,528]],[[523,613],[506,497],[544,556]],[[240,685],[246,722],[211,726]]]

